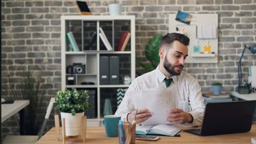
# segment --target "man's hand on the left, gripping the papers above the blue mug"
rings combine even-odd
[[[132,111],[132,113],[128,114],[127,121],[132,122],[132,120],[134,119],[134,116],[135,116],[135,111]],[[138,110],[136,115],[136,123],[141,124],[143,121],[146,121],[146,119],[150,118],[151,116],[152,114],[146,108]]]

